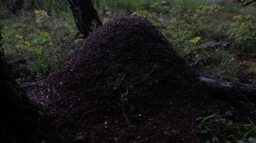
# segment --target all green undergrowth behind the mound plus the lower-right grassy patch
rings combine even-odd
[[[242,0],[243,1],[243,0]],[[247,0],[248,1],[248,0]],[[232,0],[92,0],[103,23],[125,15],[147,18],[206,78],[256,84],[255,3]],[[41,80],[83,39],[65,0],[25,0],[15,14],[0,6],[1,43],[6,60],[22,84]],[[227,113],[228,114],[228,113]],[[256,143],[256,125],[224,116],[198,118],[198,133],[237,143]],[[245,141],[247,139],[247,141]]]

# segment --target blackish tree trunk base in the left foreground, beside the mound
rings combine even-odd
[[[0,47],[0,142],[26,143],[36,131],[38,110],[10,76],[9,66],[3,57]]]

